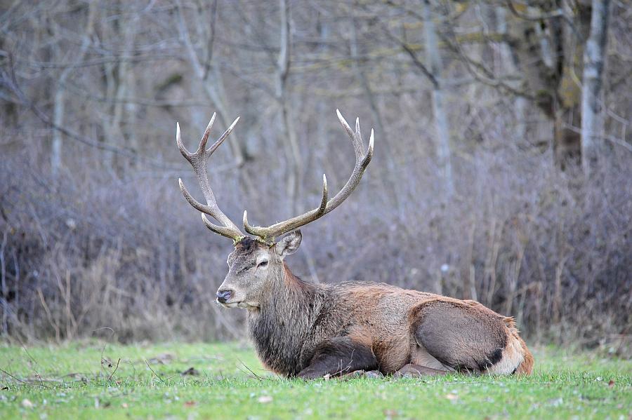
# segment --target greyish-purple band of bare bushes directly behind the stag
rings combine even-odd
[[[459,194],[448,202],[433,193],[431,162],[402,163],[412,175],[397,192],[400,207],[369,171],[359,197],[306,228],[307,247],[291,264],[321,281],[477,299],[515,315],[533,339],[620,342],[632,313],[629,161],[594,184],[548,169],[546,156],[495,151],[474,162],[459,162]],[[241,315],[213,303],[230,244],[206,233],[175,179],[88,172],[55,180],[25,163],[1,172],[5,333],[242,335]],[[262,208],[278,205],[258,199]]]

